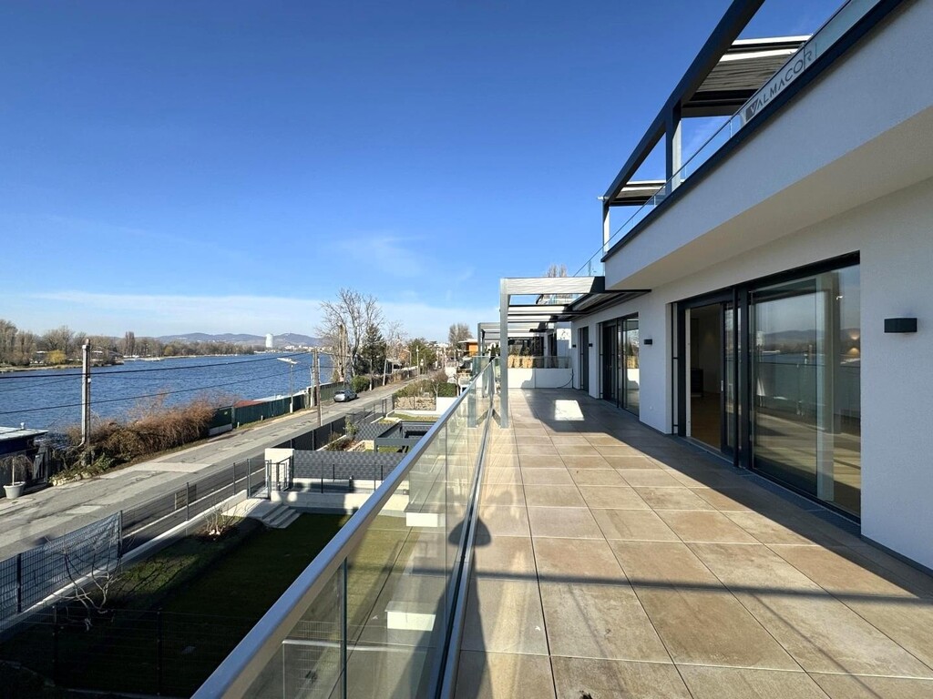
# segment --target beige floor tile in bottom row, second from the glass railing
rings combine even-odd
[[[667,663],[554,657],[551,664],[559,699],[690,699]]]

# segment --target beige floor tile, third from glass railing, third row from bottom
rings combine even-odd
[[[679,541],[609,541],[609,546],[633,584],[722,587],[703,561]]]

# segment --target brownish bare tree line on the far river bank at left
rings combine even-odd
[[[67,325],[36,335],[0,319],[0,364],[29,366],[58,365],[81,361],[81,346],[88,339],[94,363],[114,363],[120,357],[184,357],[204,354],[252,354],[255,349],[233,342],[161,342],[155,337],[137,337],[132,331],[122,337],[89,335]]]

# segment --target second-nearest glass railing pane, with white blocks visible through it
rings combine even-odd
[[[450,419],[448,419],[448,424]],[[423,696],[447,607],[447,425],[411,467],[348,560],[347,692]]]

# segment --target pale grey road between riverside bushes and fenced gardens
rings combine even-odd
[[[322,420],[340,418],[371,406],[379,406],[404,384],[367,391],[350,403],[322,405]],[[105,473],[91,480],[75,481],[29,493],[17,500],[0,500],[0,560],[16,555],[69,531],[95,522],[107,514],[150,500],[182,487],[189,480],[236,461],[262,456],[267,446],[309,432],[317,427],[317,410],[264,420],[212,437],[187,449]]]

